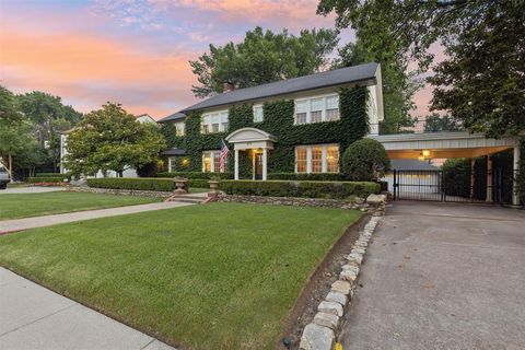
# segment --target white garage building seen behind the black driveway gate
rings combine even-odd
[[[398,184],[404,192],[441,192],[440,167],[418,160],[390,160],[390,172],[382,178],[394,192],[394,171],[402,171]]]

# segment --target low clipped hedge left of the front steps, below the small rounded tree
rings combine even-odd
[[[175,183],[171,178],[155,178],[155,177],[89,178],[88,186],[95,187],[95,188],[159,190],[159,191],[173,191],[175,189]]]

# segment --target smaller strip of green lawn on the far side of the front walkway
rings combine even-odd
[[[39,217],[90,209],[103,209],[160,201],[158,198],[83,192],[0,195],[0,220]]]

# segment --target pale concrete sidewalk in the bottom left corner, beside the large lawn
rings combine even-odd
[[[0,349],[174,348],[0,267]]]

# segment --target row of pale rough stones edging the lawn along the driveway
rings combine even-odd
[[[331,350],[336,341],[337,332],[340,330],[345,312],[350,306],[350,301],[355,291],[357,280],[363,257],[372,238],[375,226],[384,214],[384,199],[381,201],[377,211],[360,232],[358,241],[346,257],[346,264],[341,266],[339,279],[331,284],[331,290],[325,300],[317,306],[317,314],[312,323],[304,327],[301,337],[300,350]]]

